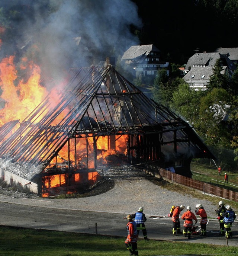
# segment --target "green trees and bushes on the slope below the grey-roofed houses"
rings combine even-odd
[[[226,170],[238,163],[238,68],[229,77],[221,74],[220,59],[213,67],[207,90],[195,91],[172,72],[160,70],[155,77],[152,97],[191,124]]]

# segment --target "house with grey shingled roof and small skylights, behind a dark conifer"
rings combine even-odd
[[[228,73],[231,76],[236,66],[226,55],[220,54],[219,52],[203,52],[196,53],[189,58],[185,67],[187,74],[183,79],[194,90],[206,90],[210,76],[213,75],[212,69],[218,59],[220,59],[222,66],[221,73]]]

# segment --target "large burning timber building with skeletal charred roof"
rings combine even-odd
[[[0,127],[0,171],[41,196],[82,191],[107,163],[156,163],[191,176],[213,154],[186,121],[148,99],[112,65],[71,69],[21,122]]]

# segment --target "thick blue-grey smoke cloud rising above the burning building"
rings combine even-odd
[[[141,20],[131,0],[1,0],[0,26],[1,58],[26,55],[55,79],[139,44],[131,26]]]

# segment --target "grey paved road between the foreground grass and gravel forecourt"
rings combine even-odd
[[[40,203],[41,207],[36,206]],[[88,234],[95,234],[97,227],[97,234],[126,237],[127,221],[123,219],[125,215],[120,213],[49,208],[43,200],[18,199],[12,202],[10,198],[0,199],[0,212],[1,225]],[[238,246],[237,226],[235,223],[232,229],[234,238],[228,240],[229,246]],[[146,227],[149,239],[227,245],[226,239],[219,237],[216,220],[209,221],[206,237],[193,236],[191,240],[182,235],[173,236],[172,222],[168,217],[147,216]]]

